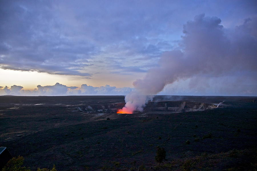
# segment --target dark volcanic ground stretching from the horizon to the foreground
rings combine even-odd
[[[0,96],[0,146],[32,170],[256,170],[256,99],[157,96],[118,115],[124,96]]]

